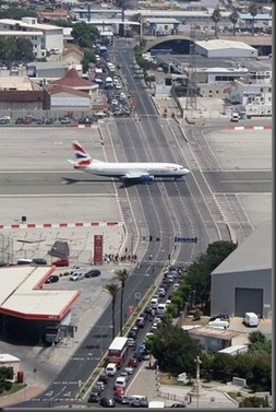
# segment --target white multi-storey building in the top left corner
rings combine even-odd
[[[63,51],[63,27],[37,23],[35,17],[23,17],[22,21],[0,19],[0,36],[21,36],[33,44],[33,52],[37,59],[44,58],[47,50]]]

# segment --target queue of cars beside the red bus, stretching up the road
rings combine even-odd
[[[146,339],[153,336],[158,325],[163,322],[163,318],[166,314],[167,306],[170,304],[170,293],[173,285],[169,281],[169,276],[172,276],[173,283],[177,284],[179,279],[183,275],[183,268],[181,270],[170,268],[168,273],[164,275],[161,284],[159,285],[156,295],[152,296],[148,306],[136,317],[131,329],[129,330],[128,338],[128,358],[124,362],[124,366],[118,369],[116,364],[108,364],[106,369],[98,377],[96,387],[101,382],[100,391],[95,390],[95,386],[92,388],[87,402],[97,403],[103,408],[115,408],[117,404],[120,407],[131,408],[148,408],[148,400],[144,395],[128,395],[128,386],[132,379],[132,375],[135,374],[135,369],[140,363],[146,358],[148,351],[146,349]],[[165,292],[165,293],[164,293]],[[105,378],[106,379],[105,379]],[[105,380],[105,384],[103,384]],[[110,385],[105,391],[107,382],[111,384],[112,396],[110,395]],[[181,404],[181,407],[184,407]],[[177,404],[172,408],[179,408]]]

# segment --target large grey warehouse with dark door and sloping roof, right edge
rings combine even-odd
[[[266,222],[211,274],[211,315],[272,318],[272,222]]]

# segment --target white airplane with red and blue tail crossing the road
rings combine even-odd
[[[68,162],[77,170],[93,175],[117,177],[122,181],[153,181],[156,177],[178,179],[190,173],[188,168],[175,163],[119,163],[92,158],[77,141],[73,141],[75,161]]]

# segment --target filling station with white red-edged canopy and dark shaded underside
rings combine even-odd
[[[0,270],[0,337],[13,342],[43,343],[45,328],[71,322],[79,291],[44,289],[56,267],[8,267]]]

